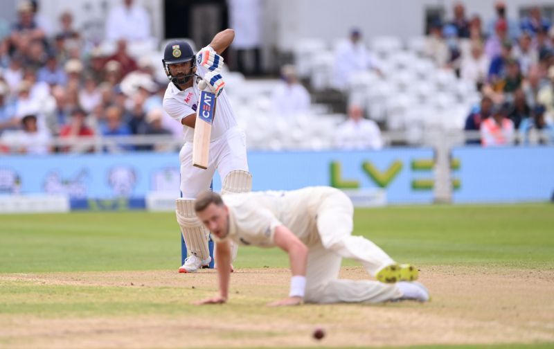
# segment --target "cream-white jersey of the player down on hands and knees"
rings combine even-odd
[[[321,203],[339,192],[330,187],[223,195],[229,206],[229,235],[239,244],[274,247],[277,226],[286,226],[307,246],[319,241],[316,218]],[[215,241],[220,241],[212,236]]]

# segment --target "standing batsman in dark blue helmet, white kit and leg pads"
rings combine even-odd
[[[181,163],[181,198],[177,199],[177,222],[188,251],[188,257],[179,267],[179,273],[190,273],[211,262],[208,249],[209,231],[195,214],[194,199],[211,186],[215,170],[222,179],[222,193],[242,193],[251,190],[252,175],[247,162],[246,136],[238,127],[229,99],[224,91],[222,52],[233,42],[235,32],[223,30],[197,54],[185,40],[174,40],[166,45],[163,69],[170,80],[163,96],[163,109],[184,127],[185,143],[179,152]],[[217,100],[211,134],[208,134],[205,168],[193,165],[193,140],[199,98],[207,91]],[[213,93],[213,95],[211,94]],[[199,121],[203,122],[203,121]],[[200,146],[200,145],[197,145]],[[237,245],[231,246],[232,262]],[[217,262],[217,261],[216,261]]]

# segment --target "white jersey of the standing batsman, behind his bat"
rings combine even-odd
[[[197,66],[196,74],[200,77],[204,77],[206,69],[202,66]],[[181,123],[181,120],[185,116],[195,114],[198,107],[198,99],[200,96],[200,90],[198,89],[196,78],[193,87],[181,91],[170,82],[166,94],[163,96],[163,109],[175,120]],[[231,127],[237,125],[235,114],[231,108],[229,98],[225,90],[217,97],[217,105],[215,107],[215,116],[213,117],[211,141],[215,141],[227,132]],[[195,130],[192,127],[183,125],[185,141],[192,142],[194,138]]]

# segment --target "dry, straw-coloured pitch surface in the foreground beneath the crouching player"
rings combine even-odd
[[[366,278],[361,267],[343,278]],[[270,308],[287,293],[287,269],[242,269],[233,274],[227,305],[194,306],[216,289],[215,271],[0,274],[1,285],[62,287],[65,294],[35,299],[14,295],[7,303],[91,302],[91,310],[0,316],[0,347],[182,348],[284,346],[406,346],[418,344],[554,342],[554,271],[433,267],[420,280],[432,301],[382,305],[302,305]],[[101,295],[86,292],[94,289]],[[83,291],[85,290],[85,291]],[[84,292],[84,293],[83,293]],[[19,297],[19,298],[17,298]],[[104,314],[95,299],[121,304],[137,299],[145,312]],[[170,309],[170,310],[168,310]],[[314,328],[326,336],[316,341]]]

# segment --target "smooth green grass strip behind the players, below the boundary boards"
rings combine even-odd
[[[0,215],[0,273],[175,269],[172,213]],[[554,267],[554,206],[359,209],[354,235],[418,265]],[[243,248],[239,268],[287,267],[277,249]],[[345,265],[355,265],[345,262]]]

